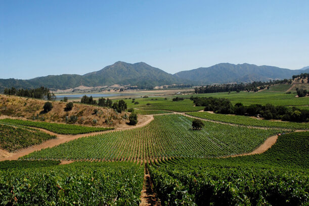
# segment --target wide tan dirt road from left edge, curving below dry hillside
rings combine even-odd
[[[138,128],[138,127],[142,127],[145,126],[146,124],[149,124],[154,118],[153,116],[145,116],[143,117],[145,121],[140,121],[138,122],[137,125],[135,126],[125,126],[125,127],[118,127],[116,129],[112,129],[112,130],[107,130],[107,131],[99,131],[99,132],[92,132],[92,133],[87,133],[87,134],[77,134],[77,135],[63,135],[63,134],[57,134],[51,131],[48,131],[46,129],[41,129],[39,128],[39,130],[44,131],[46,133],[49,133],[51,135],[56,135],[57,138],[56,139],[52,139],[52,140],[48,140],[46,142],[43,142],[40,145],[35,145],[29,148],[25,148],[22,150],[19,150],[15,153],[9,153],[5,150],[1,150],[0,149],[0,161],[4,161],[4,160],[17,160],[20,157],[23,157],[25,155],[28,155],[34,151],[39,151],[41,149],[46,149],[46,148],[51,148],[51,147],[55,147],[57,145],[78,139],[78,138],[82,138],[82,137],[86,137],[86,136],[92,136],[92,135],[97,135],[97,134],[103,134],[103,133],[108,133],[108,132],[113,132],[113,131],[120,131],[120,130],[126,130],[126,129],[131,129],[131,128]]]

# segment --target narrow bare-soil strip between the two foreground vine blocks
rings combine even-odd
[[[147,164],[145,164],[144,185],[141,192],[141,206],[160,205],[156,193],[154,192],[153,183],[148,172]]]

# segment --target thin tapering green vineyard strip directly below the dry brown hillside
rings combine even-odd
[[[41,122],[41,121],[19,120],[19,119],[0,119],[0,123],[1,122],[12,125],[23,125],[23,126],[42,128],[59,134],[82,134],[94,131],[105,131],[113,129],[109,127],[91,127],[91,126],[58,124],[58,123]]]

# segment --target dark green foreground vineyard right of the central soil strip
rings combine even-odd
[[[285,134],[264,154],[175,159],[149,172],[166,205],[307,205],[308,146],[309,132]]]

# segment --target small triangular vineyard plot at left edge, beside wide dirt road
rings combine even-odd
[[[37,129],[0,124],[0,148],[14,152],[56,138]]]

